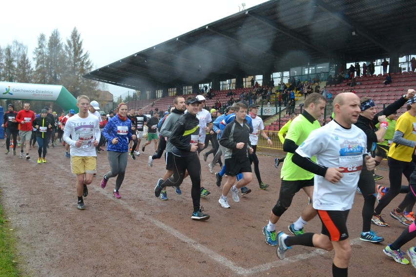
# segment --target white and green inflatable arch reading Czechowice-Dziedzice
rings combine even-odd
[[[77,99],[60,85],[0,82],[0,99],[55,101],[64,111],[78,113]]]

